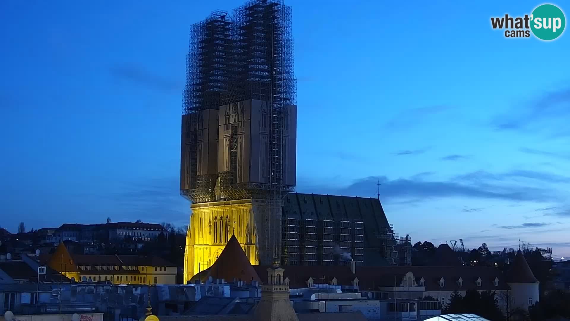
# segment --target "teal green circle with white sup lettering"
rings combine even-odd
[[[540,5],[531,14],[531,30],[536,38],[554,40],[558,38],[566,26],[566,18],[555,5]]]

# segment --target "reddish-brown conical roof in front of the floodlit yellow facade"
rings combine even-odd
[[[226,247],[208,271],[214,279],[233,281],[235,278],[246,282],[251,282],[251,280],[260,282],[257,272],[251,266],[235,235],[227,241]]]

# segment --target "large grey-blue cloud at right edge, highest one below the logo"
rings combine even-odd
[[[527,103],[518,104],[508,114],[492,120],[496,130],[535,133],[541,131],[550,137],[570,135],[567,119],[570,117],[570,87],[544,93]]]

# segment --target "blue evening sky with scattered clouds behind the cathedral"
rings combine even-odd
[[[380,180],[386,216],[414,242],[520,238],[570,256],[570,36],[490,26],[540,2],[287,4],[298,191],[374,197]],[[188,224],[189,26],[239,5],[0,3],[0,226]]]

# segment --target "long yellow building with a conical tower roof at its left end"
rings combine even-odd
[[[46,264],[75,282],[115,284],[176,284],[177,267],[157,256],[71,255],[63,243]]]

